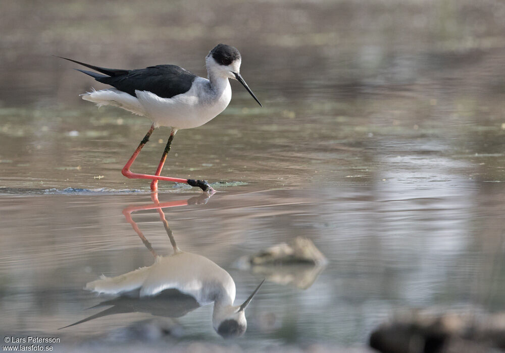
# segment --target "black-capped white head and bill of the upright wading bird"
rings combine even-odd
[[[256,98],[254,93],[250,90],[249,86],[247,86],[242,76],[240,76],[242,56],[240,56],[237,48],[226,44],[218,44],[209,52],[205,58],[205,63],[207,65],[209,79],[215,77],[238,80],[238,82],[245,87],[247,92],[250,93],[252,98],[254,98],[258,104],[262,106],[258,98]]]

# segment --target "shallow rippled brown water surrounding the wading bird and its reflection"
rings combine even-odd
[[[0,76],[12,82],[0,88],[2,333],[61,337],[55,349],[81,351],[194,351],[201,344],[365,351],[371,330],[397,312],[504,310],[499,3],[482,6],[479,18],[470,2],[258,2],[258,13],[244,4],[239,11],[240,2],[196,12],[191,2],[132,5],[152,17],[143,27],[130,22],[139,16],[134,10],[115,13],[109,3],[102,27],[80,3],[46,3],[9,5],[14,18],[38,11],[25,32],[0,21],[9,34],[0,38],[9,49],[0,54],[9,68]],[[255,15],[245,21],[246,13]],[[186,25],[190,14],[197,20]],[[217,26],[225,18],[243,31]],[[117,39],[110,28],[125,23],[129,36]],[[216,37],[240,44],[241,73],[264,108],[232,83],[221,115],[177,133],[163,173],[206,179],[218,191],[205,199],[160,182],[160,202],[179,205],[164,209],[177,245],[228,271],[237,303],[263,279],[237,267],[241,256],[305,236],[328,264],[306,289],[267,279],[236,340],[214,332],[212,306],[177,319],[170,335],[141,313],[58,330],[96,312],[84,310],[103,300],[83,289],[87,282],[153,263],[123,214],[153,201],[148,182],[120,173],[149,122],[81,102],[77,95],[92,81],[49,54],[118,67],[163,57],[204,75]],[[139,50],[145,55],[129,55]],[[155,170],[168,133],[155,131],[134,171]],[[170,254],[156,210],[133,219],[156,253]]]

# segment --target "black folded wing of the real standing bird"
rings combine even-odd
[[[86,70],[78,70],[93,77],[98,82],[111,85],[134,97],[136,97],[135,90],[139,90],[152,92],[162,98],[172,98],[189,91],[196,78],[196,75],[176,65],[157,65],[138,70],[121,70],[100,68],[66,57],[62,58],[105,74],[100,75]]]

